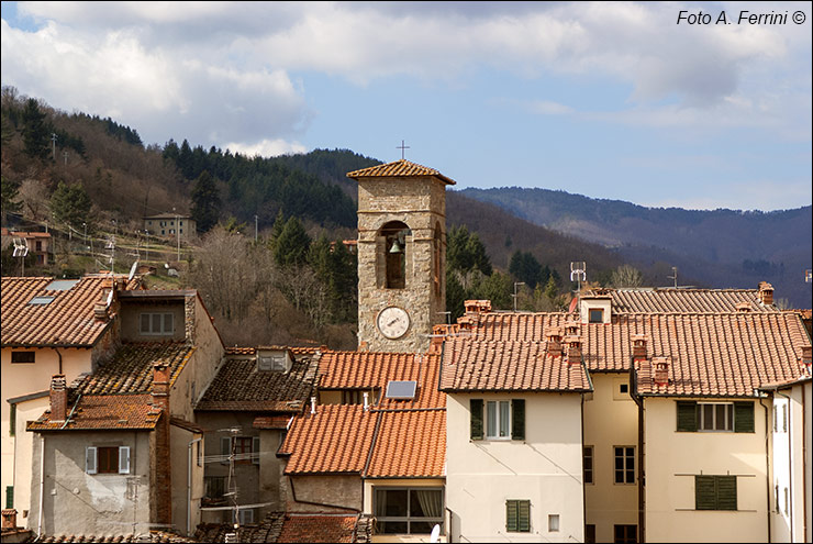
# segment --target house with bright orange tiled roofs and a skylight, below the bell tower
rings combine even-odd
[[[375,542],[427,542],[446,525],[439,356],[325,352],[318,396],[278,455],[290,513],[376,518]]]

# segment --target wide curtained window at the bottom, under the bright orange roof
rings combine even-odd
[[[443,489],[376,488],[374,500],[378,534],[430,534],[435,525],[443,532]]]

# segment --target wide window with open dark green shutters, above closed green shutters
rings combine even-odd
[[[677,401],[678,432],[754,432],[754,402]]]

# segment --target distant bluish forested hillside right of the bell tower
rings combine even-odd
[[[639,266],[677,266],[711,287],[773,284],[792,307],[810,308],[813,223],[811,207],[773,212],[645,208],[547,189],[466,189],[471,199],[499,206],[536,225],[613,248]],[[682,278],[686,278],[682,279]]]

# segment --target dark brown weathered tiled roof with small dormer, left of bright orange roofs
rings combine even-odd
[[[313,391],[315,357],[299,356],[290,371],[260,371],[254,358],[229,358],[196,410],[299,412]]]

